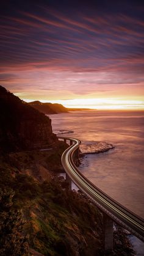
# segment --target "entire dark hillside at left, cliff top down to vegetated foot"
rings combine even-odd
[[[105,254],[103,214],[57,175],[68,145],[51,120],[4,87],[0,107],[0,255],[134,255],[121,233],[114,254]]]

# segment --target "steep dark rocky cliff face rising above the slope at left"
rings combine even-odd
[[[25,150],[56,142],[51,119],[0,86],[0,148]]]

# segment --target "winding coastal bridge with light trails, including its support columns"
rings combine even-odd
[[[59,140],[63,140],[70,145],[62,155],[62,165],[65,169],[66,180],[70,188],[71,181],[73,181],[74,184],[103,211],[104,249],[113,248],[113,221],[144,242],[143,219],[123,207],[123,205],[116,200],[113,200],[97,186],[93,185],[93,183],[84,177],[77,169],[74,161],[79,156],[79,145],[81,141],[70,137],[59,137]]]

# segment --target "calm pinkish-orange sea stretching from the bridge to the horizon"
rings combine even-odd
[[[144,112],[76,111],[50,115],[53,130],[82,143],[110,142],[115,149],[84,157],[79,169],[90,181],[144,218]],[[63,134],[64,136],[64,134]]]

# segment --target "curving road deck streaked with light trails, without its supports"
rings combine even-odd
[[[124,229],[129,230],[133,235],[137,236],[144,242],[144,221],[127,208],[120,205],[105,194],[97,186],[93,185],[74,164],[74,152],[79,148],[81,141],[70,137],[59,137],[59,139],[67,139],[73,142],[73,145],[67,148],[62,155],[62,165],[71,180],[81,189],[104,213],[120,224]]]

